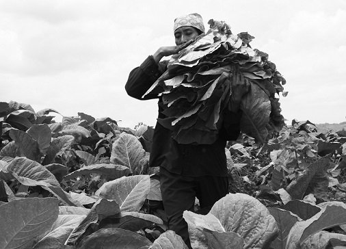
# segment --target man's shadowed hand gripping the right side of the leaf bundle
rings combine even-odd
[[[250,82],[239,70],[235,69],[230,74],[230,86],[232,92],[230,95],[230,110],[238,112],[241,98],[250,91]]]

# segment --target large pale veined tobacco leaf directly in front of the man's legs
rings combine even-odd
[[[215,202],[207,215],[184,211],[183,218],[189,226],[193,248],[209,248],[210,232],[206,236],[203,229],[219,233],[237,233],[223,234],[217,238],[232,237],[230,241],[243,241],[243,245],[238,242],[234,244],[243,248],[264,248],[278,234],[278,226],[268,209],[256,198],[246,194],[228,194]],[[213,235],[213,238],[215,237],[216,235]]]

